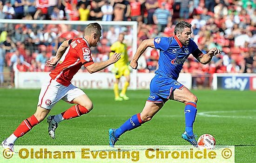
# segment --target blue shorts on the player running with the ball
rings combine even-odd
[[[172,78],[156,74],[150,82],[150,95],[147,101],[165,103],[169,100],[175,89],[182,89],[184,87],[185,86]]]

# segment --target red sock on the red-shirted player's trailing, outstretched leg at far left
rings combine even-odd
[[[29,132],[35,125],[38,124],[38,120],[34,115],[23,120],[21,124],[17,127],[17,129],[13,132],[13,134],[19,138]]]

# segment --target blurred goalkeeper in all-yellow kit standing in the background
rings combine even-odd
[[[110,47],[110,54],[112,56],[114,53],[120,53],[121,59],[114,64],[112,68],[112,72],[115,73],[115,84],[114,84],[114,93],[115,100],[129,100],[129,97],[126,96],[126,90],[129,86],[130,82],[130,70],[128,69],[128,54],[127,54],[127,45],[123,43],[124,33],[120,33],[118,40]],[[124,86],[119,94],[118,83],[120,81],[121,76],[125,76],[126,81]]]

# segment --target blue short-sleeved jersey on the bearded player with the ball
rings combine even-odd
[[[178,79],[182,66],[189,55],[198,49],[192,39],[189,40],[188,46],[183,46],[176,36],[155,38],[154,44],[155,49],[160,50],[159,68],[155,71],[155,74],[170,77],[174,80]]]

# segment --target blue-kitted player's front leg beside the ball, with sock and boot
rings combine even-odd
[[[197,145],[195,135],[193,133],[193,124],[197,113],[197,97],[192,94],[188,88],[183,87],[182,89],[175,89],[170,99],[180,101],[185,104],[185,132],[182,134],[182,138],[193,145]]]

